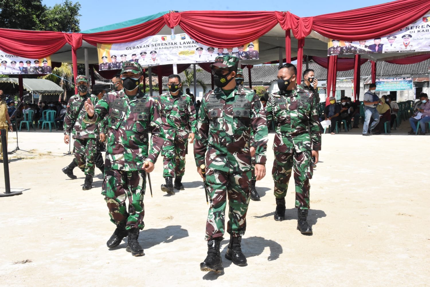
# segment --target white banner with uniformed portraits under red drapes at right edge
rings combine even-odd
[[[327,55],[401,53],[430,51],[430,15],[395,33],[360,41],[331,39]]]

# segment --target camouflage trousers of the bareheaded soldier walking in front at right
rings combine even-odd
[[[294,172],[295,183],[295,207],[309,209],[309,179],[312,178],[312,152],[302,151],[292,153],[280,153],[275,151],[273,161],[273,181],[275,182],[274,194],[276,198],[285,198],[291,172]]]

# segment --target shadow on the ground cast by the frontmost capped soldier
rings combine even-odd
[[[228,234],[226,235],[228,236]],[[225,247],[223,250],[221,250],[221,257],[222,257],[222,265],[225,268],[230,267],[233,262],[225,258],[225,253],[227,252],[229,240],[223,240],[221,241],[221,245],[225,244]],[[266,247],[270,248],[270,255],[267,257],[267,261],[273,261],[279,258],[279,255],[282,254],[282,246],[278,243],[276,243],[273,240],[264,239],[259,236],[252,236],[248,238],[242,238],[242,251],[243,254],[245,254],[246,258],[249,259],[253,256],[258,256],[261,253],[263,253],[264,249]],[[219,276],[224,275],[224,272],[208,272],[206,275],[203,276],[204,280],[216,280]]]

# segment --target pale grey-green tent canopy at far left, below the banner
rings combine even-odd
[[[24,89],[33,94],[36,93],[39,95],[58,95],[64,93],[64,90],[61,89],[60,86],[50,80],[22,79],[22,81]],[[18,89],[18,78],[0,78],[0,89]]]

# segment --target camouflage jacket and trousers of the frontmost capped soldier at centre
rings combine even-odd
[[[197,130],[194,156],[198,167],[206,162],[206,185],[213,201],[206,223],[206,240],[224,235],[227,197],[230,205],[227,232],[233,237],[242,236],[249,204],[251,146],[256,150],[256,162],[266,162],[268,136],[261,102],[253,91],[242,86],[227,95],[218,87],[202,99]]]

